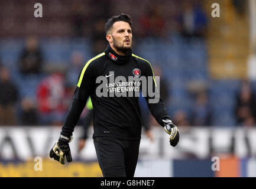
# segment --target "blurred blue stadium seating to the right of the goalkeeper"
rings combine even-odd
[[[167,109],[173,114],[183,109],[190,113],[193,97],[187,83],[193,80],[208,83],[209,102],[213,110],[213,125],[234,126],[235,94],[239,80],[212,80],[209,76],[208,49],[206,41],[196,39],[187,42],[180,35],[171,35],[170,41],[155,43],[145,40],[138,48],[142,57],[151,64],[160,64],[163,76],[170,83],[171,100]],[[155,53],[152,53],[155,52]],[[256,88],[256,84],[254,86]]]

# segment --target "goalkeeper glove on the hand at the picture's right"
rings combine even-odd
[[[164,130],[170,135],[170,145],[176,146],[180,139],[180,133],[176,125],[170,119],[163,119]]]

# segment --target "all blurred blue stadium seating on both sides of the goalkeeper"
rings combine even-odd
[[[18,60],[24,40],[21,38],[1,39],[0,56],[2,63],[11,69],[12,79],[18,84],[21,97],[35,98],[37,84],[44,74],[22,77],[18,71]],[[40,38],[40,47],[46,64],[70,65],[70,54],[74,50],[82,51],[86,60],[92,57],[88,38]],[[152,66],[162,69],[163,77],[170,87],[171,100],[167,110],[173,114],[182,109],[190,113],[195,100],[187,84],[191,81],[203,81],[209,86],[209,101],[213,109],[213,125],[235,125],[235,92],[239,88],[238,80],[211,80],[208,73],[208,49],[202,39],[184,40],[181,35],[171,34],[168,40],[145,38],[137,45],[138,56],[146,58]],[[256,83],[252,83],[256,89]]]

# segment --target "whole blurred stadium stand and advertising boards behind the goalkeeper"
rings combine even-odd
[[[105,49],[105,22],[122,12],[133,20],[133,52],[161,75],[181,135],[171,148],[149,116],[154,141],[142,133],[135,176],[256,176],[254,0],[41,1],[42,18],[34,17],[35,3],[0,1],[0,177],[102,176],[92,127],[77,152],[86,109],[70,144],[73,162],[59,165],[48,152],[82,64]],[[219,18],[212,17],[213,3],[220,5]],[[42,171],[35,157],[43,158]],[[219,171],[212,170],[213,157]]]

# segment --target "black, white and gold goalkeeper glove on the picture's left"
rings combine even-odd
[[[67,162],[72,162],[71,152],[69,148],[69,142],[72,141],[71,138],[60,135],[59,141],[57,141],[53,148],[50,151],[50,158],[59,161],[61,164],[65,164],[65,157],[67,158]]]

